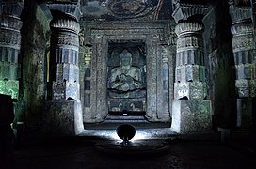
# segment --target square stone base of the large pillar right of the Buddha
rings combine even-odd
[[[212,130],[210,100],[173,100],[171,129],[178,133]]]

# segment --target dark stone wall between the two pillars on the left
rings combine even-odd
[[[21,90],[17,109],[27,123],[40,122],[46,95],[47,41],[50,38],[47,11],[32,0],[24,2],[21,49]]]

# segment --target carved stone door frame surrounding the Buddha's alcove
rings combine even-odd
[[[133,24],[133,26],[131,26]],[[135,25],[136,24],[136,25]],[[108,114],[107,105],[107,53],[108,44],[119,40],[140,40],[146,47],[146,117],[150,121],[169,121],[171,97],[173,93],[173,74],[168,75],[168,93],[163,93],[163,44],[168,44],[168,22],[155,23],[87,23],[86,41],[92,46],[90,62],[90,107],[84,116],[88,122],[103,121]],[[132,28],[131,28],[132,27]],[[172,57],[169,55],[169,57]],[[172,67],[172,59],[168,62]],[[172,71],[168,71],[172,73]],[[164,95],[168,95],[167,97]],[[168,98],[168,101],[163,101]],[[165,109],[165,110],[163,110]]]

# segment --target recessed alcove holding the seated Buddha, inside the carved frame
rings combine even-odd
[[[131,55],[129,66],[131,68],[123,69],[121,66],[120,54],[123,54],[123,51]],[[146,114],[146,75],[144,42],[122,40],[119,43],[108,43],[107,104],[109,115]],[[123,76],[125,81],[120,81],[120,76]],[[113,84],[118,86],[113,88],[111,86]]]

